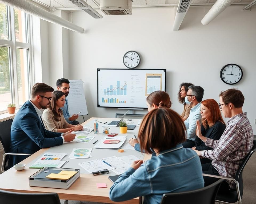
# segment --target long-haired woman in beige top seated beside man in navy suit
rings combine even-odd
[[[83,130],[82,125],[71,125],[65,120],[61,110],[65,103],[64,92],[54,91],[49,108],[45,109],[42,115],[46,130],[58,133],[66,133],[70,130]]]

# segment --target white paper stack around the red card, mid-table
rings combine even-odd
[[[126,140],[126,136],[115,136],[113,137],[104,137],[101,141],[98,142],[98,144],[96,144],[94,146],[94,148],[98,148],[98,149],[112,149],[112,150],[118,150],[122,147],[123,143]],[[106,140],[120,140],[118,143],[104,143]]]

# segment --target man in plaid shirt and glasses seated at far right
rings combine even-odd
[[[234,178],[245,156],[253,147],[253,129],[243,113],[244,96],[241,91],[231,88],[219,94],[219,108],[224,117],[230,118],[219,140],[203,137],[200,123],[197,121],[197,136],[213,150],[198,151],[198,156],[213,160],[202,164],[203,173]],[[204,177],[205,186],[215,182],[216,178]],[[233,181],[224,181],[220,187],[224,191],[235,190]]]

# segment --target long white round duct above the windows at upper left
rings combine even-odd
[[[12,6],[14,8],[17,8],[18,10],[24,11],[33,16],[37,16],[51,23],[61,25],[63,28],[67,28],[71,31],[76,31],[79,33],[85,32],[85,29],[79,27],[78,25],[75,25],[63,18],[60,18],[59,16],[51,14],[50,12],[45,11],[42,8],[39,8],[38,6],[35,6],[25,0],[0,0],[0,3]]]

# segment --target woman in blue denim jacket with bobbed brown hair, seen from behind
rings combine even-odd
[[[161,102],[159,104],[161,106]],[[157,108],[143,118],[138,140],[141,150],[157,156],[143,163],[133,162],[110,188],[112,201],[121,202],[144,196],[146,203],[160,203],[164,193],[177,193],[203,188],[199,157],[192,149],[183,148],[185,125],[178,113]]]

